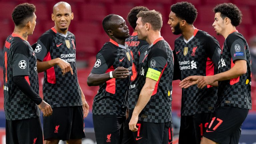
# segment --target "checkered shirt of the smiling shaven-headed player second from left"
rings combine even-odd
[[[70,63],[73,75],[68,72],[62,75],[57,65],[44,72],[44,100],[51,107],[82,106],[81,92],[77,79],[75,36],[71,32],[61,35],[54,28],[46,31],[37,41],[37,57],[48,61],[55,58]],[[37,50],[37,49],[35,49]],[[42,60],[42,59],[39,59]]]

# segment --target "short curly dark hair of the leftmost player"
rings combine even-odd
[[[24,27],[33,16],[36,7],[33,4],[23,3],[17,5],[12,12],[12,20],[16,26]]]

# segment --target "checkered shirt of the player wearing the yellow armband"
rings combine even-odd
[[[169,122],[171,121],[173,53],[163,37],[157,39],[147,51],[140,71],[138,84],[140,91],[145,84],[149,68],[161,71],[161,75],[149,102],[139,115],[139,121]]]

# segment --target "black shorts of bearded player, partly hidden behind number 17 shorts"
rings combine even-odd
[[[200,144],[203,132],[212,116],[213,113],[181,116],[179,144]]]

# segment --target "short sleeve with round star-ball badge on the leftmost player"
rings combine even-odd
[[[12,60],[13,76],[30,75],[29,73],[29,59],[28,46],[21,43],[15,48]]]

